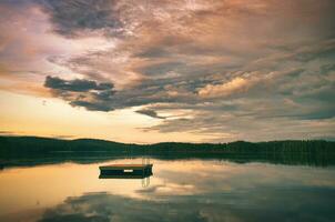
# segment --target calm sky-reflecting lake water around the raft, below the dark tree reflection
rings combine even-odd
[[[150,181],[99,179],[108,163],[141,159],[0,171],[0,221],[335,221],[333,167],[151,160]]]

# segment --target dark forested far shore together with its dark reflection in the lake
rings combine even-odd
[[[270,162],[290,165],[335,165],[335,142],[271,141],[231,143],[126,144],[104,140],[59,140],[0,137],[0,169],[61,162],[91,163],[112,159],[152,157],[162,160],[215,159],[238,163]]]

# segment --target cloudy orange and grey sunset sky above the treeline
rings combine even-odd
[[[333,0],[1,0],[0,134],[335,139]]]

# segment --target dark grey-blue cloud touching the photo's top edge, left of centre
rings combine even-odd
[[[114,10],[116,1],[41,0],[40,2],[54,24],[53,30],[70,38],[97,30],[119,32],[122,28],[122,21]]]

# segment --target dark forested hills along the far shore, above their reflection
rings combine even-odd
[[[324,140],[285,140],[271,142],[126,144],[105,140],[59,140],[37,137],[0,137],[1,155],[45,154],[54,152],[110,152],[115,154],[335,154],[335,142]]]

